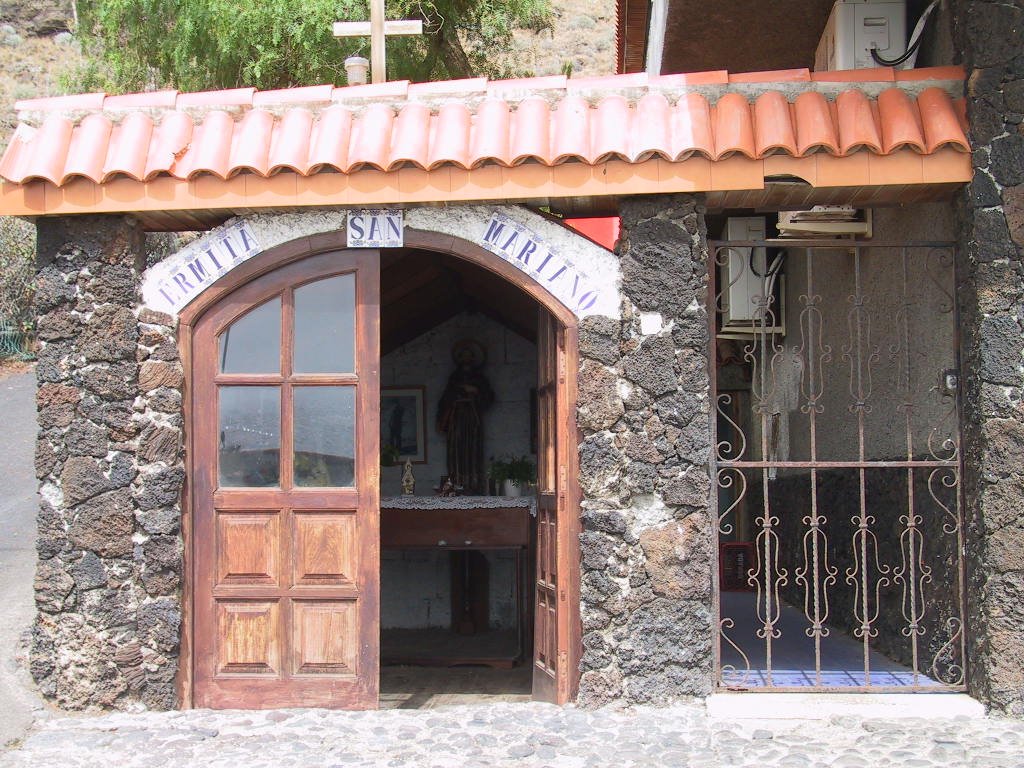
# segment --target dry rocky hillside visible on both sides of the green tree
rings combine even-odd
[[[516,34],[512,54],[535,75],[574,77],[614,70],[614,0],[553,0],[552,27]],[[71,0],[0,0],[0,144],[14,125],[17,99],[60,92],[60,77],[79,63]]]

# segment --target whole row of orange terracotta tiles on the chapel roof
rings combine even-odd
[[[949,82],[950,79],[953,82]],[[742,156],[969,152],[959,68],[399,81],[19,102],[15,184]],[[953,94],[953,95],[951,95]]]

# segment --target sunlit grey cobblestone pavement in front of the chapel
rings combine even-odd
[[[431,711],[115,714],[41,723],[11,768],[203,766],[962,766],[1024,768],[1024,722],[998,719],[710,720],[703,707],[581,711],[486,705]]]

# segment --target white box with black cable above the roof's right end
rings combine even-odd
[[[906,52],[905,0],[839,0],[814,53],[814,71],[862,70]]]

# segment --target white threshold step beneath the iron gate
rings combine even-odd
[[[749,693],[710,695],[713,720],[828,720],[856,718],[985,717],[985,707],[967,693]]]

